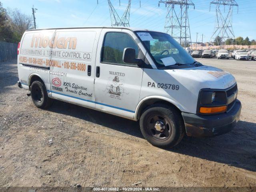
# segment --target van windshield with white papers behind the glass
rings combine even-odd
[[[137,31],[152,57],[160,66],[193,64],[195,60],[169,34]]]

